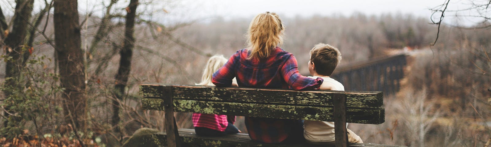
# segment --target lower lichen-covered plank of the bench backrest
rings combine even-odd
[[[155,99],[155,98],[154,98]],[[175,112],[195,112],[203,114],[221,114],[279,119],[296,119],[333,122],[333,108],[288,106],[272,104],[244,104],[232,102],[173,100]],[[146,107],[144,107],[146,108]],[[159,110],[159,109],[157,109]],[[273,112],[273,113],[272,113]],[[380,124],[384,122],[384,110],[347,109],[348,123]]]

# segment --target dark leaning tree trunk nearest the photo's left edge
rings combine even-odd
[[[29,23],[28,21],[31,17],[33,3],[34,0],[17,0],[12,31],[9,32],[9,34],[3,41],[5,44],[4,49],[7,56],[12,57],[11,60],[7,61],[5,66],[5,87],[21,88],[23,86],[19,85],[16,79],[18,79],[18,76],[20,76],[19,66],[21,65],[20,63],[22,63],[22,61],[20,61],[20,57],[25,50],[23,50],[23,44],[27,34],[26,30]],[[0,19],[2,21],[0,22],[3,22],[3,14],[1,15],[1,17],[2,18]],[[0,25],[1,24],[3,23],[0,23]],[[4,28],[4,26],[1,25],[1,28]],[[4,29],[7,29],[7,27],[5,27]],[[12,95],[10,91],[4,91],[3,93],[5,97],[9,97],[10,95]],[[9,107],[6,106],[5,109],[8,110]],[[4,113],[4,116],[8,116],[8,114]],[[4,125],[7,126],[7,123],[8,120],[4,122]]]

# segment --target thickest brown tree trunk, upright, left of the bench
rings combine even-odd
[[[55,0],[55,44],[63,91],[63,112],[66,123],[76,129],[85,126],[87,99],[85,98],[85,67],[81,48],[77,0]]]

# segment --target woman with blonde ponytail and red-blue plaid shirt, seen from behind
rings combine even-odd
[[[248,47],[233,54],[225,65],[213,74],[217,87],[232,85],[237,78],[240,87],[319,89],[323,79],[300,75],[297,59],[279,48],[285,26],[275,13],[258,14],[247,30]],[[303,141],[301,120],[246,117],[249,137],[257,142],[278,144]]]

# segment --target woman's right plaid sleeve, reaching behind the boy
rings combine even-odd
[[[285,82],[294,90],[318,90],[324,81],[321,77],[313,79],[300,75],[297,59],[293,55],[283,64],[281,74]]]

